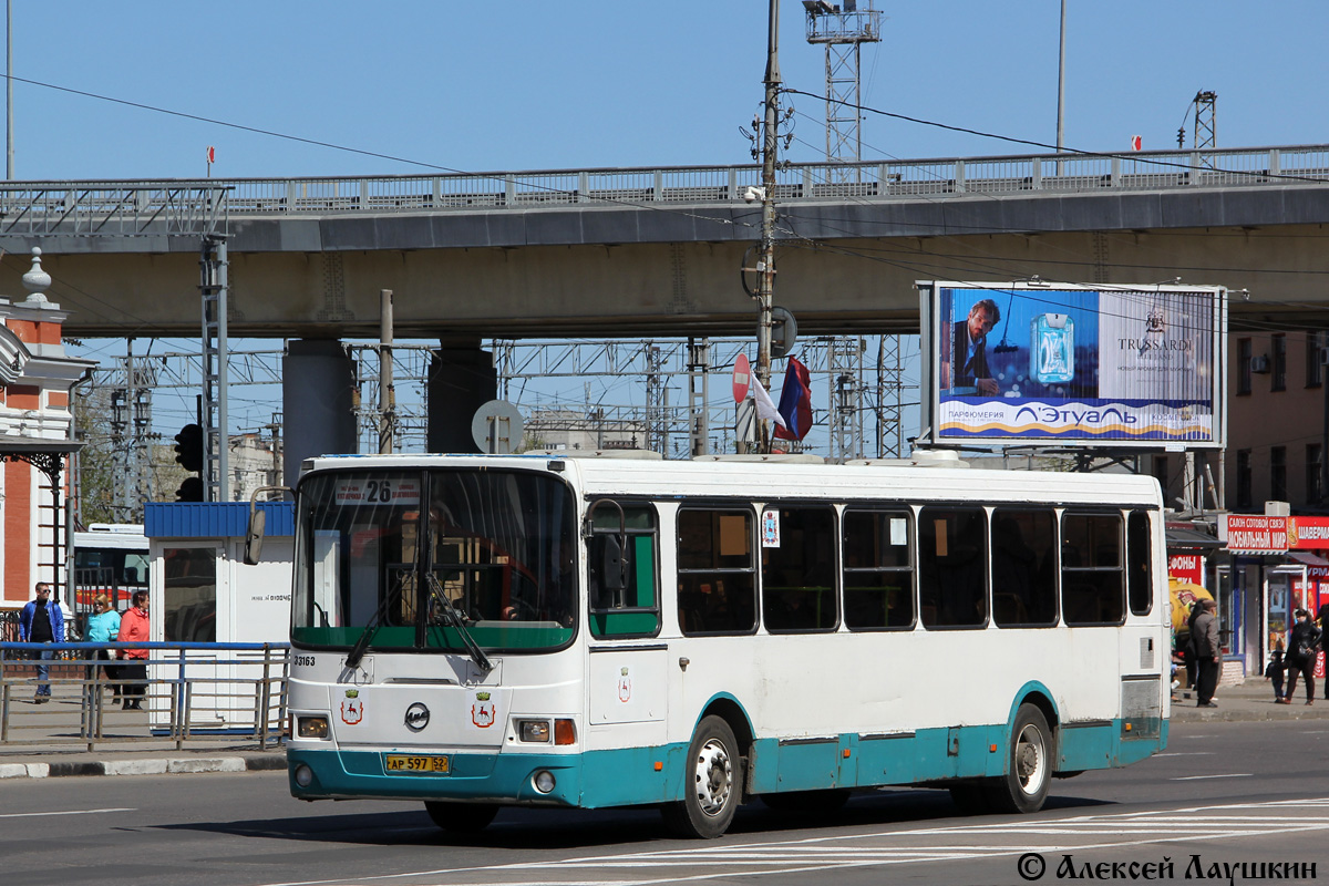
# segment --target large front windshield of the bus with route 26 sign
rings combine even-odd
[[[575,632],[575,554],[571,493],[548,474],[316,474],[296,505],[291,640],[361,651],[558,648]]]

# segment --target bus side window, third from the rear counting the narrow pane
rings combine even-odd
[[[1057,514],[993,511],[993,620],[998,627],[1057,624]]]

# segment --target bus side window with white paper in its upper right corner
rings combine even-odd
[[[906,510],[844,511],[844,623],[851,631],[913,627],[912,526]]]

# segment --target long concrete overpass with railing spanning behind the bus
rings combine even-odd
[[[207,231],[229,242],[233,336],[375,336],[381,288],[403,337],[735,335],[755,321],[739,267],[759,177],[16,182],[0,186],[0,247],[47,251],[73,336],[197,336]],[[807,163],[780,173],[776,198],[776,303],[809,333],[917,331],[920,278],[1181,278],[1248,290],[1236,328],[1329,316],[1325,145]]]

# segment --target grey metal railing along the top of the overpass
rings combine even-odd
[[[528,210],[585,205],[744,202],[756,165],[534,170],[346,178],[15,182],[0,185],[0,234],[194,231],[246,218]],[[787,163],[776,199],[892,201],[966,195],[1088,194],[1329,182],[1329,145],[1131,154],[952,157]]]

